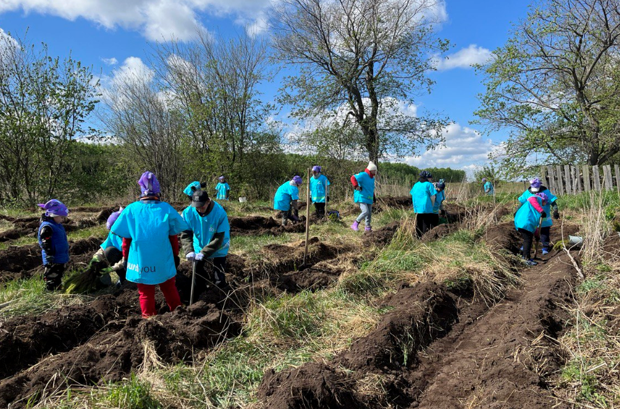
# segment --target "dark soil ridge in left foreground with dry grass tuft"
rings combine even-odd
[[[78,321],[70,328],[74,332],[79,332],[76,329],[86,318]],[[84,344],[44,357],[28,371],[2,380],[0,406],[13,403],[12,408],[24,408],[29,396],[45,391],[119,381],[140,365],[157,361],[191,362],[199,350],[236,336],[240,330],[227,314],[204,302],[149,320],[131,316],[110,324]]]

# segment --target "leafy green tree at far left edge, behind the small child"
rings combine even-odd
[[[0,201],[32,204],[68,194],[69,147],[93,131],[98,102],[91,68],[0,35]]]

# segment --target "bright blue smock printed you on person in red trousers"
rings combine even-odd
[[[162,201],[135,201],[123,210],[111,233],[131,238],[127,279],[139,284],[161,284],[176,275],[168,236],[189,227],[176,210]]]

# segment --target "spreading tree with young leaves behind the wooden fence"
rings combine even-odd
[[[531,6],[494,61],[481,67],[486,93],[477,122],[510,132],[492,156],[502,171],[522,174],[537,157],[594,165],[619,153],[619,47],[617,0]]]

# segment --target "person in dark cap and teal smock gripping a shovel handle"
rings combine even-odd
[[[186,259],[196,263],[194,295],[206,290],[207,281],[225,288],[226,256],[230,247],[230,225],[226,210],[209,198],[203,190],[192,196],[192,204],[183,210],[183,220],[189,229],[181,233],[181,245]],[[211,260],[213,274],[206,271],[206,260]],[[191,295],[190,295],[191,299]]]

